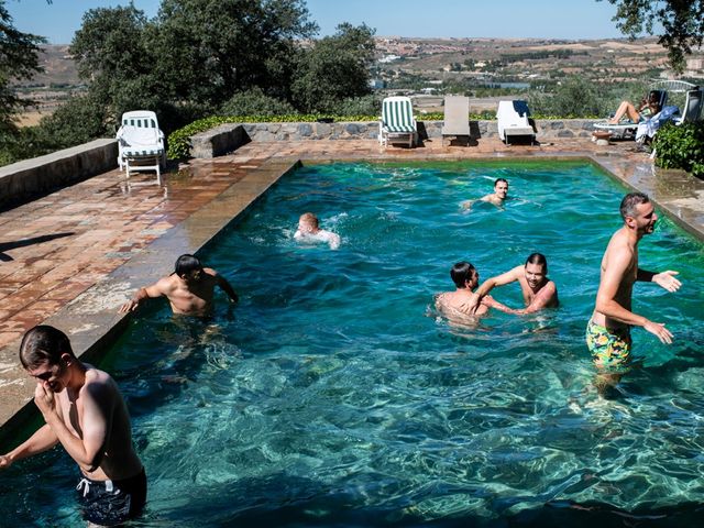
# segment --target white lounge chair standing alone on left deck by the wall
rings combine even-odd
[[[164,133],[158,128],[156,114],[150,110],[134,110],[122,114],[118,130],[118,165],[120,170],[156,170],[162,184],[162,165],[166,164]]]

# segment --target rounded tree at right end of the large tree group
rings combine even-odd
[[[374,30],[349,23],[337,30],[302,52],[292,89],[295,105],[305,112],[328,112],[344,99],[371,92]]]

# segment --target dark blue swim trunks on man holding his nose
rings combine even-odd
[[[146,502],[146,474],[122,481],[91,481],[81,475],[78,485],[78,504],[89,522],[114,526],[138,517]]]

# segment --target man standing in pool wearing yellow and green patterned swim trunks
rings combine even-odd
[[[634,283],[651,282],[668,292],[680,289],[678,272],[646,272],[638,267],[638,242],[651,234],[658,215],[647,195],[630,193],[620,202],[624,226],[616,231],[604,257],[594,314],[586,326],[586,345],[598,371],[597,387],[615,385],[630,363],[630,327],[642,327],[663,343],[672,333],[662,322],[652,322],[630,311]]]

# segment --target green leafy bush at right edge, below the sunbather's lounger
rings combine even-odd
[[[704,177],[704,122],[668,123],[658,130],[652,146],[659,167],[682,168]]]

